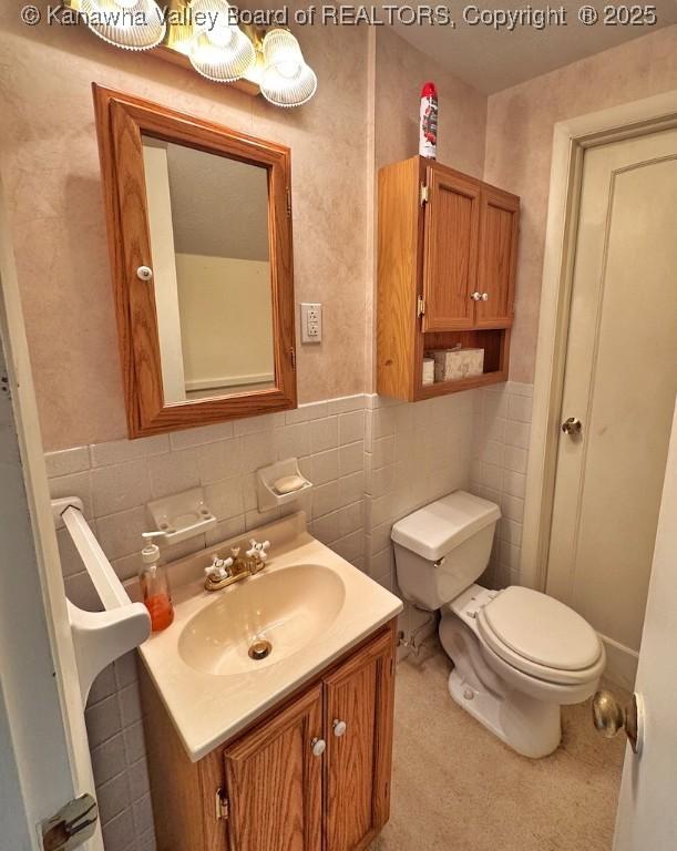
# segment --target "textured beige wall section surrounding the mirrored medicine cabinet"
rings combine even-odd
[[[0,175],[45,448],[126,435],[92,81],[290,145],[296,300],[325,305],[322,345],[299,347],[300,401],[361,392],[367,29],[305,29],[318,94],[285,111],[82,27],[2,27]]]

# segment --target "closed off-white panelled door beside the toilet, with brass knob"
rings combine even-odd
[[[632,689],[677,392],[677,130],[584,156],[548,594]]]

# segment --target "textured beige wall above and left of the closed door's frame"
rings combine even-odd
[[[677,27],[490,96],[484,176],[522,197],[514,381],[534,378],[554,125],[671,89],[677,89]]]

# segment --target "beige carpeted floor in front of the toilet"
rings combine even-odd
[[[609,851],[624,738],[595,732],[588,701],[526,759],[452,701],[450,670],[437,647],[398,666],[391,817],[370,851]]]

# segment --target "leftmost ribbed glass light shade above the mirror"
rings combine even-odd
[[[81,0],[80,11],[92,32],[124,50],[156,48],[167,30],[155,0]]]

